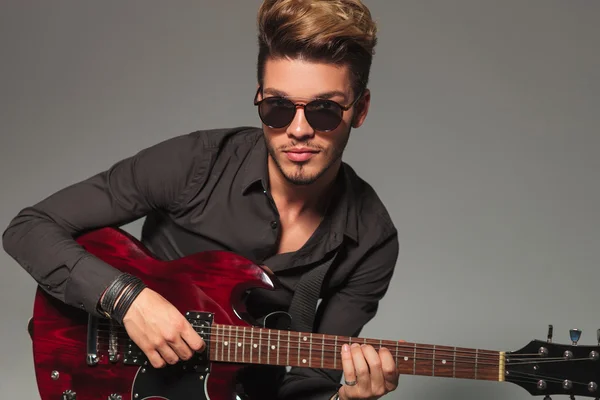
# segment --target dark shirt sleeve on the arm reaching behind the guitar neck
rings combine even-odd
[[[398,251],[394,231],[367,253],[343,288],[323,299],[315,317],[315,332],[358,336],[377,313],[379,301],[387,292]],[[340,387],[341,378],[341,370],[293,367],[284,375],[277,398],[328,400]]]

